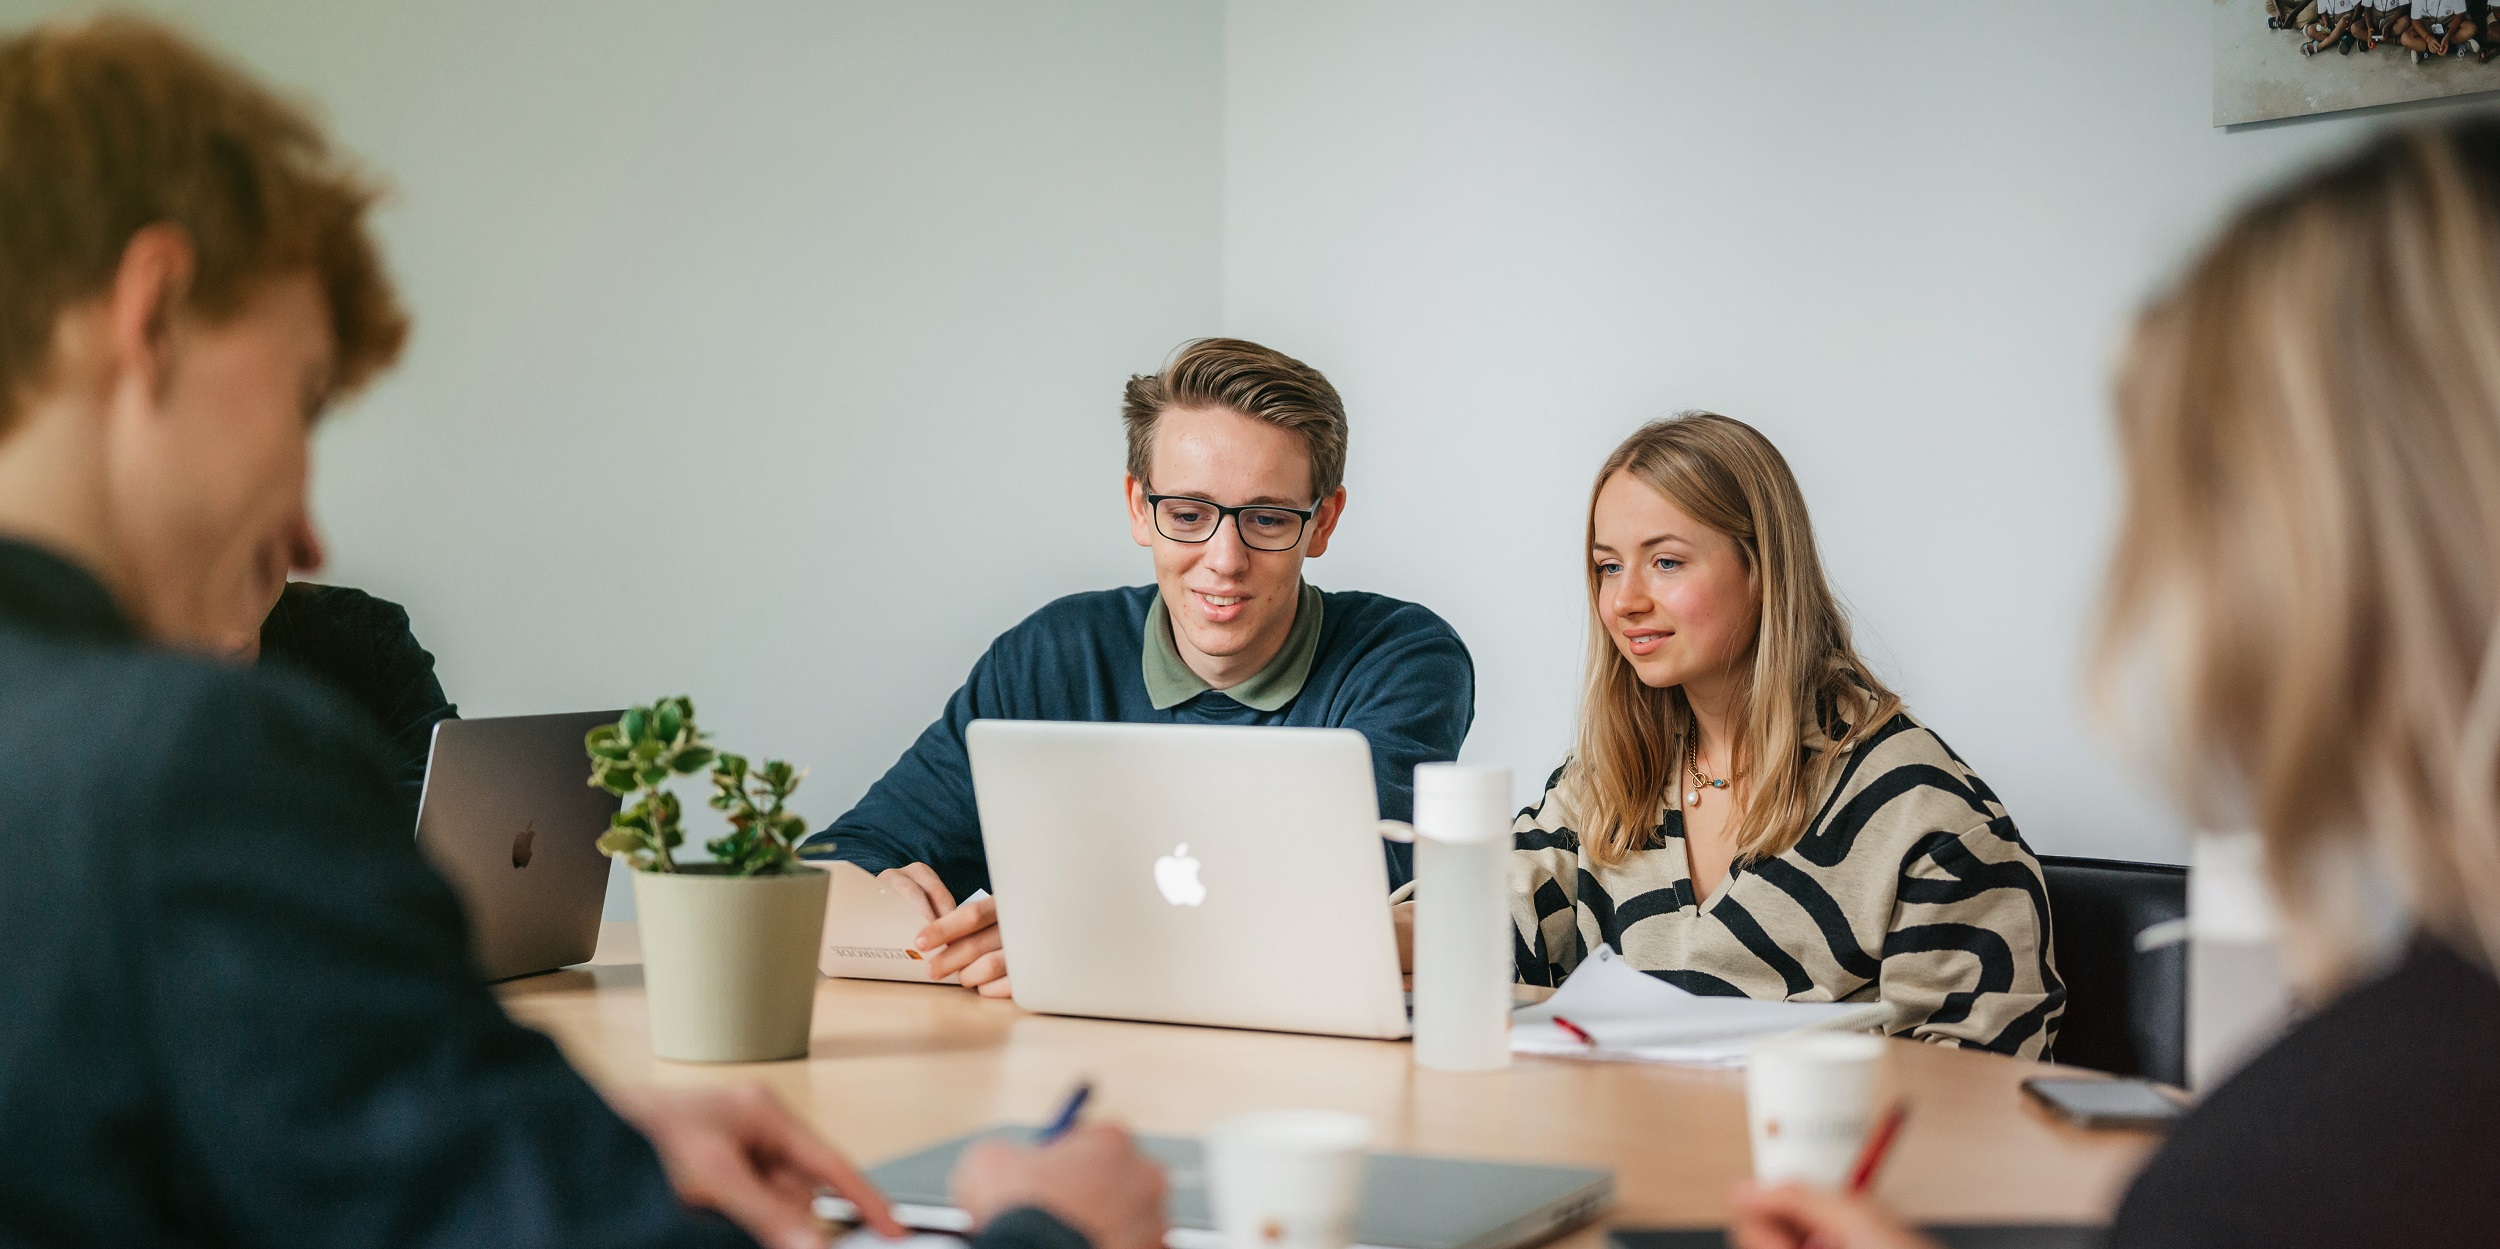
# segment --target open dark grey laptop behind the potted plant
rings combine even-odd
[[[460,894],[485,979],[552,972],[598,949],[608,902],[598,839],[620,799],[588,784],[582,734],[620,714],[435,724],[418,849]]]

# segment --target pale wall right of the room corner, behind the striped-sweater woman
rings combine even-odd
[[[1225,330],[1355,422],[1312,580],[1450,617],[1468,754],[1528,792],[1590,477],[1712,407],[1788,452],[1870,659],[2038,849],[2178,859],[2082,707],[2108,365],[2230,200],[2365,125],[2208,127],[2182,10],[1235,0]]]

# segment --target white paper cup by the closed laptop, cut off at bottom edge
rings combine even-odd
[[[1228,1249],[1345,1249],[1362,1209],[1355,1114],[1280,1109],[1208,1132],[1208,1199]]]

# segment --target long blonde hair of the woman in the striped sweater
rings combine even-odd
[[[1588,495],[1588,545],[1598,545],[1598,492],[1618,472],[1735,540],[1760,607],[1752,662],[1730,717],[1742,817],[1738,859],[1768,859],[1805,837],[1840,754],[1900,709],[1850,647],[1850,620],[1822,580],[1815,527],[1788,460],[1752,425],[1682,412],[1622,440]],[[1840,737],[1832,737],[1832,729]],[[1678,784],[1692,704],[1682,687],[1652,689],[1615,649],[1588,570],[1588,689],[1572,757],[1585,804],[1582,847],[1602,867],[1645,849],[1660,802]]]

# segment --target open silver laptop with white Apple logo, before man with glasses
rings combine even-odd
[[[978,719],[965,742],[1015,1004],[1408,1034],[1360,732]]]

